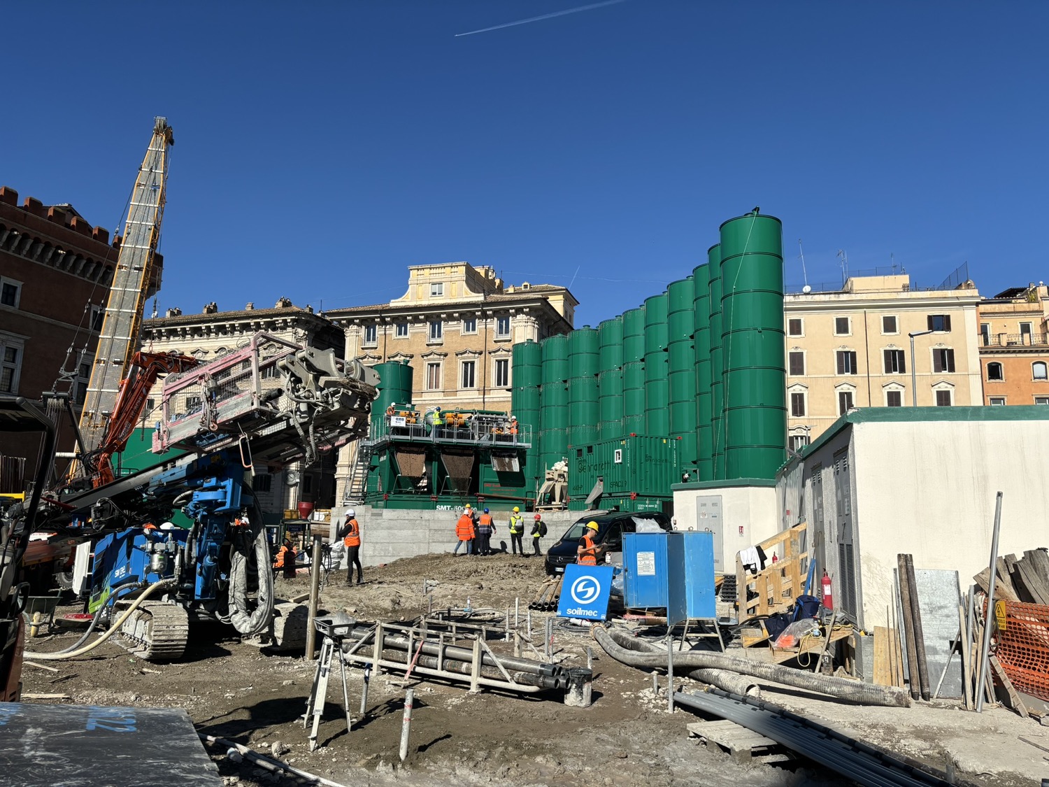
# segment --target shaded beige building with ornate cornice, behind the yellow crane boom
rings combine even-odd
[[[214,361],[229,352],[248,344],[258,333],[266,333],[295,344],[309,344],[321,349],[334,349],[342,356],[344,338],[342,329],[309,306],[293,305],[287,298],[280,298],[273,309],[256,309],[249,303],[244,309],[220,312],[212,302],[199,314],[183,314],[179,309],[169,309],[164,317],[145,320],[142,326],[142,349],[148,353],[180,353],[193,356],[201,363]],[[160,403],[163,381],[153,386],[144,416],[145,424],[152,424],[159,413],[153,411]],[[187,408],[192,403],[186,403]],[[335,502],[334,454],[322,458],[311,467],[294,463],[286,468],[256,466],[254,487],[259,506],[267,523],[278,520],[287,509],[298,503],[314,503],[329,507]]]

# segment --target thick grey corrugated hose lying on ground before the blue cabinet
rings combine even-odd
[[[617,661],[637,667],[666,667],[666,653],[652,653],[650,645],[641,642],[626,632],[607,630],[595,624],[591,634],[604,652]],[[883,705],[886,707],[909,707],[911,695],[896,686],[877,686],[860,681],[831,678],[794,669],[779,664],[768,664],[711,651],[675,652],[675,666],[682,669],[728,669],[741,675],[775,681],[784,685],[819,692],[858,705]]]

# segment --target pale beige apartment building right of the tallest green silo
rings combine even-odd
[[[852,407],[982,404],[979,304],[971,281],[912,291],[907,274],[787,295],[788,445],[807,445]],[[921,334],[913,357],[911,334]]]

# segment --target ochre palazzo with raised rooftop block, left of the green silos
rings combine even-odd
[[[411,365],[418,408],[509,410],[513,345],[568,334],[578,304],[563,286],[447,262],[409,267],[408,291],[389,303],[326,315],[345,328],[346,358]]]

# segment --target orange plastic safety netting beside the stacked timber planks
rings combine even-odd
[[[1049,607],[1019,601],[998,601],[996,607],[994,655],[1002,668],[1018,692],[1049,700]]]

